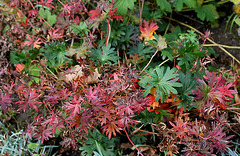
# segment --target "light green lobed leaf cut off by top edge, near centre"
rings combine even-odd
[[[117,8],[117,14],[126,15],[128,9],[134,8],[134,2],[136,0],[117,0],[115,3],[115,8]]]

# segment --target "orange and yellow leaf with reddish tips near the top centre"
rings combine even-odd
[[[153,34],[155,33],[156,30],[158,30],[157,23],[151,22],[149,24],[148,21],[144,20],[143,21],[143,26],[140,27],[140,31],[141,31],[142,34],[139,36],[139,38],[141,40],[144,39],[144,41],[153,40],[153,39],[155,39]]]

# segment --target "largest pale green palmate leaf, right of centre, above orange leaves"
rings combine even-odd
[[[161,102],[165,101],[166,96],[170,96],[170,92],[178,94],[175,87],[182,87],[182,84],[176,82],[178,80],[178,74],[175,74],[176,68],[170,69],[169,67],[156,67],[155,70],[149,71],[149,76],[144,76],[139,85],[146,89],[143,96],[146,97],[153,87],[156,87],[156,99],[158,101],[161,98]]]

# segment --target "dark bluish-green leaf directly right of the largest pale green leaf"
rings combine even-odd
[[[197,81],[196,79],[191,78],[192,74],[187,73],[186,75],[183,72],[179,73],[179,80],[182,83],[182,87],[177,88],[178,91],[178,99],[182,100],[179,103],[178,108],[184,107],[184,110],[186,110],[188,105],[188,110],[191,109],[191,103],[194,98],[194,94],[192,93],[192,90],[196,89]]]

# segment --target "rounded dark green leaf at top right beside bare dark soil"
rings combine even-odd
[[[219,17],[216,6],[212,4],[198,6],[195,8],[195,12],[197,13],[197,17],[202,21],[206,20],[213,22]]]

